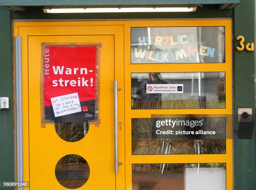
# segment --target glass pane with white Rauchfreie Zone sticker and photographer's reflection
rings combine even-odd
[[[225,108],[225,72],[131,74],[132,109]]]

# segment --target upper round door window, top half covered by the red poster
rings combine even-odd
[[[55,131],[67,142],[76,142],[85,137],[89,130],[88,122],[57,122]]]

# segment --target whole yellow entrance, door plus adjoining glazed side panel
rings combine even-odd
[[[14,23],[14,35],[22,37],[24,181],[30,182],[31,190],[78,187],[84,180],[81,190],[232,190],[231,29],[231,20]],[[59,126],[41,122],[41,43],[45,42],[102,45],[100,125],[91,124],[89,130],[82,126],[88,133],[76,142],[61,139],[56,133]],[[118,174],[113,80],[120,88]],[[149,95],[148,81],[154,83],[151,87],[176,85],[183,93]],[[225,137],[157,137],[155,129],[166,128],[151,125],[190,117],[211,123],[212,130],[220,129]],[[61,164],[74,157],[83,165],[78,169],[69,164],[76,173],[63,178],[62,172],[70,167]]]

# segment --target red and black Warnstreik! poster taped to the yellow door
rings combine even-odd
[[[95,120],[97,46],[45,45],[44,120]]]

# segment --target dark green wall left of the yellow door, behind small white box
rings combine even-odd
[[[13,74],[10,11],[0,7],[0,96],[10,108],[0,110],[0,181],[13,181]],[[5,188],[6,190],[12,188]]]

